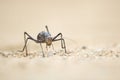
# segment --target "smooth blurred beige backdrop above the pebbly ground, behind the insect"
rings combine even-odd
[[[119,0],[0,0],[0,48],[23,45],[48,25],[80,45],[120,42]]]

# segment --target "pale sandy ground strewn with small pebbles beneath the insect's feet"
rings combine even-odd
[[[14,51],[0,52],[1,80],[119,80],[120,45],[109,49],[77,48],[65,54],[39,52],[27,57]]]

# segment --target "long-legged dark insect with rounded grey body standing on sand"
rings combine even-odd
[[[65,40],[63,39],[62,33],[59,33],[55,37],[52,37],[50,32],[49,32],[48,26],[45,26],[45,28],[46,28],[47,31],[46,32],[45,31],[40,32],[37,35],[37,39],[32,38],[27,32],[24,32],[25,44],[24,44],[23,49],[20,52],[23,52],[24,50],[26,50],[26,56],[27,56],[28,55],[27,42],[28,42],[28,40],[32,40],[35,43],[39,43],[40,44],[41,49],[42,49],[42,53],[43,53],[43,57],[45,57],[45,54],[44,54],[43,47],[42,47],[41,43],[46,43],[46,48],[47,48],[48,46],[53,45],[52,42],[54,42],[54,41],[61,41],[61,48],[64,49],[65,53],[66,53],[67,51],[66,51]],[[58,38],[59,36],[60,36],[60,38]]]

